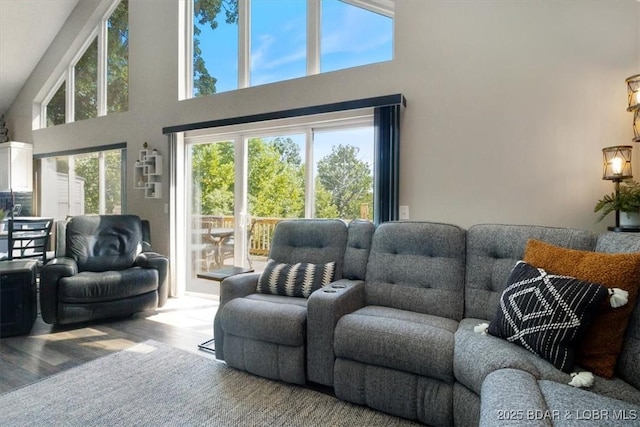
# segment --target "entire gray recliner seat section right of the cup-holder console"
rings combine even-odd
[[[336,397],[428,425],[453,425],[454,334],[462,318],[465,230],[376,229],[364,306],[335,330]]]

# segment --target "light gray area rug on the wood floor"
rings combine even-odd
[[[411,426],[147,341],[0,395],[1,426]]]

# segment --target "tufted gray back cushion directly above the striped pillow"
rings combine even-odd
[[[347,225],[334,219],[287,219],[273,232],[269,258],[278,263],[335,262],[334,277],[342,278]]]

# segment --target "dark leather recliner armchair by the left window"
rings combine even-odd
[[[151,251],[148,222],[135,215],[79,215],[58,232],[63,253],[40,273],[45,322],[128,316],[167,301],[169,259]]]

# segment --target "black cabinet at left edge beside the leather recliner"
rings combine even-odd
[[[0,337],[28,334],[38,312],[36,261],[0,261]]]

